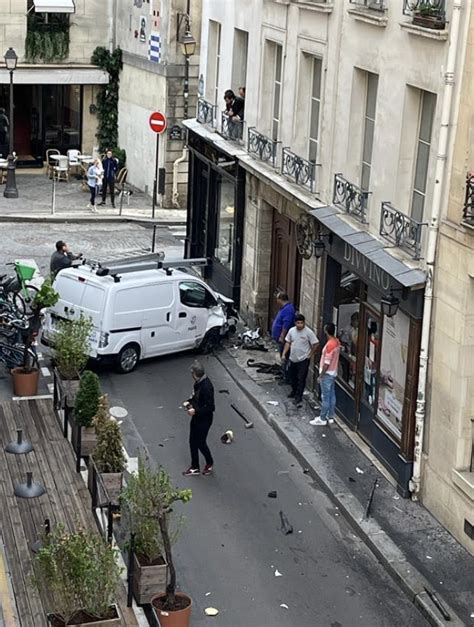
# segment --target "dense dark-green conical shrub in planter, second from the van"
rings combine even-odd
[[[97,443],[97,434],[93,426],[94,416],[99,410],[101,398],[99,377],[90,370],[82,373],[79,381],[74,401],[74,418],[72,421],[73,433],[77,430],[74,427],[81,426],[81,455],[87,456],[92,453]],[[77,452],[77,437],[73,436],[73,446]]]

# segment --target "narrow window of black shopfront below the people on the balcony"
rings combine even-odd
[[[222,178],[217,189],[217,239],[214,257],[229,272],[234,257],[234,183]]]

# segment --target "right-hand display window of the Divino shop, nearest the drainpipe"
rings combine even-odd
[[[402,432],[409,334],[410,318],[402,311],[384,318],[377,418],[397,438]]]

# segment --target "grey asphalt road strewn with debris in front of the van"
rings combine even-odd
[[[193,598],[192,624],[426,624],[214,357],[203,361],[216,389],[209,437],[215,472],[181,476],[190,462],[189,419],[179,406],[191,390],[193,359],[192,354],[156,359],[125,376],[100,373],[111,405],[128,409],[122,427],[129,455],[145,444],[177,486],[193,490],[191,502],[176,507],[186,520],[175,547],[179,587]],[[244,428],[231,402],[254,429]],[[220,436],[229,428],[235,441],[223,445]],[[267,496],[271,490],[276,499]],[[280,529],[280,511],[293,525],[290,535]],[[217,618],[205,616],[208,606],[219,610]]]

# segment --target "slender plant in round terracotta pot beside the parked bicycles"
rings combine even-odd
[[[31,303],[31,315],[28,327],[23,333],[23,365],[11,371],[13,391],[16,396],[35,396],[38,394],[39,368],[34,365],[34,353],[31,350],[41,327],[41,311],[53,307],[59,294],[53,289],[51,281],[46,279]]]

